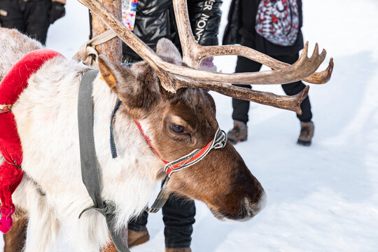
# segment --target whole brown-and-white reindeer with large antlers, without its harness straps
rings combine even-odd
[[[241,46],[202,47],[191,34],[185,0],[174,0],[183,57],[167,39],[160,40],[153,52],[101,3],[80,2],[144,59],[129,68],[100,55],[100,72],[93,82],[94,144],[101,195],[116,204],[117,229],[148,204],[156,184],[166,176],[162,160],[177,160],[214,139],[219,127],[216,106],[202,89],[300,113],[308,87],[293,97],[284,97],[228,83],[282,84],[304,79],[318,84],[327,82],[332,73],[332,61],[325,71],[314,73],[325,59],[325,50],[319,55],[317,45],[309,58],[306,44],[292,66]],[[42,47],[10,29],[0,28],[0,40],[0,78],[22,55]],[[278,70],[235,74],[197,70],[200,61],[211,55],[242,55]],[[76,60],[54,57],[29,78],[28,87],[13,105],[25,172],[13,198],[25,213],[21,221],[29,217],[27,228],[32,234],[27,236],[25,252],[50,251],[62,232],[76,251],[99,251],[109,242],[101,214],[86,211],[78,218],[93,204],[81,181],[77,121],[79,83],[89,69]],[[113,126],[118,152],[118,158],[113,159],[109,118],[117,99],[122,103]],[[188,169],[174,172],[167,190],[201,200],[221,220],[253,218],[266,198],[259,181],[228,142]]]

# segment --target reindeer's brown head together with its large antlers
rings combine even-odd
[[[183,59],[167,40],[160,41],[155,54],[101,3],[79,1],[145,60],[131,69],[105,57],[99,57],[98,62],[104,80],[123,101],[127,113],[135,120],[147,120],[151,125],[153,130],[149,134],[153,145],[164,160],[176,160],[214,139],[218,129],[214,100],[200,88],[301,113],[300,103],[307,96],[308,87],[293,97],[285,97],[226,83],[283,84],[302,79],[326,83],[332,73],[332,60],[328,69],[314,73],[325,59],[325,50],[319,55],[318,45],[309,58],[306,44],[300,59],[293,65],[242,46],[198,45],[191,33],[186,0],[173,0]],[[216,55],[241,55],[279,70],[235,74],[197,70],[202,59]],[[202,200],[218,218],[251,218],[265,202],[262,186],[230,143],[211,151],[196,165],[175,172],[167,187],[180,195]]]

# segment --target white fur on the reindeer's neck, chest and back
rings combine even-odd
[[[28,52],[6,49],[3,39],[13,45],[11,48],[18,45],[15,39],[6,38],[7,32],[0,30],[1,67],[14,64]],[[28,42],[24,39],[22,43]],[[0,73],[8,70],[1,67]],[[76,251],[99,251],[108,239],[105,219],[97,211],[86,211],[78,219],[80,212],[93,204],[81,180],[77,123],[78,87],[86,70],[87,66],[73,60],[50,59],[29,78],[28,87],[13,106],[23,149],[22,169],[27,174],[13,200],[29,214],[28,232],[33,233],[27,236],[25,252],[50,251],[62,231],[69,235]],[[118,158],[111,158],[109,125],[116,99],[108,85],[96,78],[94,141],[102,198],[116,202],[117,228],[122,228],[146,207],[163,164],[134,120],[121,113],[122,107],[114,125]],[[141,122],[148,128],[147,123]],[[32,180],[45,196],[38,193]]]

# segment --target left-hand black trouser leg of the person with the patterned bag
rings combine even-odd
[[[260,71],[261,64],[245,57],[237,57],[235,73]],[[236,85],[236,84],[234,84]],[[251,85],[236,85],[251,88]],[[232,98],[232,119],[243,123],[248,122],[249,101]]]

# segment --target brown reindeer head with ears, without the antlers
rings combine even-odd
[[[182,64],[179,51],[167,39],[159,41],[157,53],[167,62]],[[181,158],[214,139],[218,130],[216,106],[208,92],[182,88],[172,94],[162,87],[146,62],[129,68],[100,56],[98,63],[125,111],[134,120],[144,120],[149,125],[148,137],[153,139],[162,160]],[[251,218],[265,202],[262,186],[230,143],[211,151],[196,165],[173,173],[167,187],[205,202],[218,218]]]

